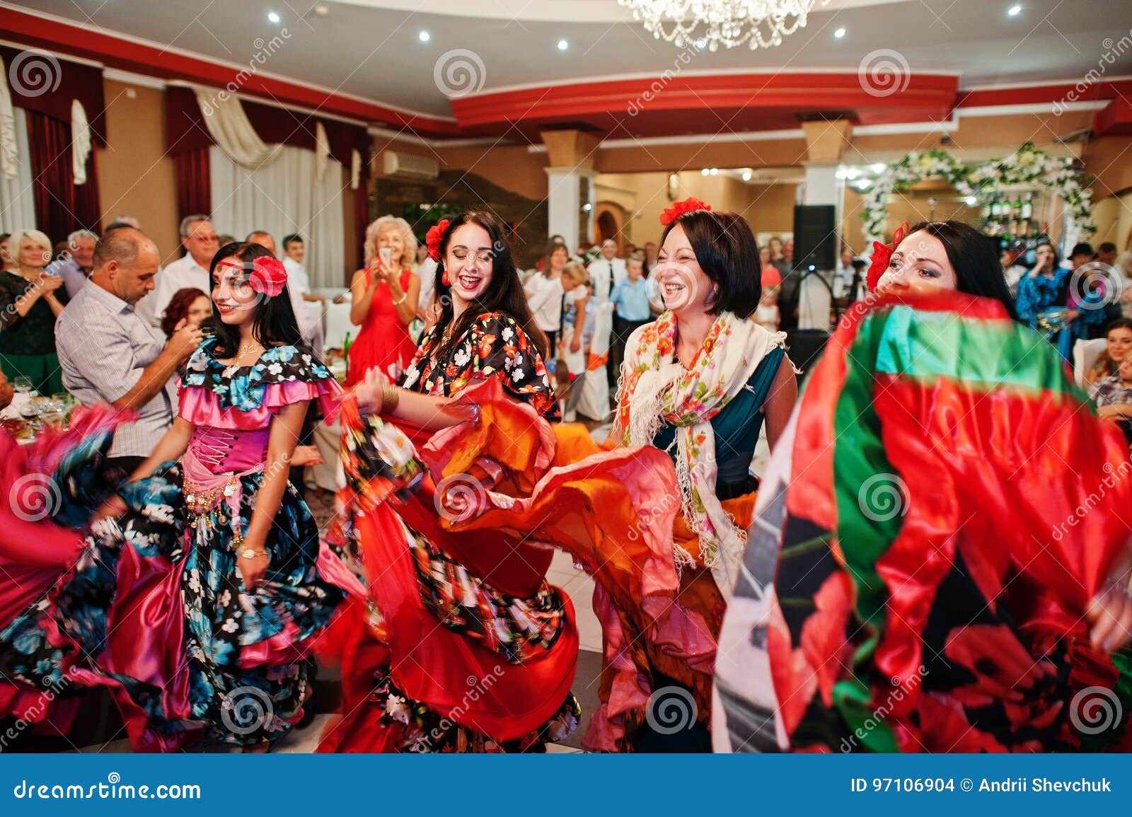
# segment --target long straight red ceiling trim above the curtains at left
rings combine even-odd
[[[161,79],[180,79],[215,87],[235,80],[239,68],[188,57],[143,43],[131,42],[91,28],[83,28],[25,11],[5,9],[0,15],[0,36],[38,48],[60,51]],[[328,94],[285,79],[256,74],[240,85],[239,92],[283,104],[291,103],[324,113],[352,117],[366,122],[381,122],[405,128],[421,136],[455,136],[460,126],[434,117],[397,111],[378,103]]]

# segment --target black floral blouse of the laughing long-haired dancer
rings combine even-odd
[[[460,394],[475,377],[500,377],[504,389],[531,405],[551,422],[561,420],[558,401],[547,377],[542,355],[518,324],[503,312],[484,312],[452,346],[441,361],[432,361],[440,344],[439,327],[421,339],[401,385],[429,395]]]

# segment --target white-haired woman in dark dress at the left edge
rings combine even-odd
[[[63,311],[63,280],[44,267],[51,239],[38,230],[17,230],[8,238],[15,269],[0,272],[0,369],[15,381],[50,395],[63,390],[55,354],[55,318]]]

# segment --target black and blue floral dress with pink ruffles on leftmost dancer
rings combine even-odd
[[[214,345],[205,341],[182,371],[179,415],[194,424],[185,457],[123,485],[128,510],[96,524],[78,564],[0,631],[5,674],[49,683],[80,664],[85,683],[110,687],[136,749],[281,737],[310,697],[310,643],[352,586],[289,484],[264,544],[267,573],[245,588],[235,536],[264,483],[272,416],[311,399],[333,411],[338,387],[306,346],[231,367]],[[216,485],[211,504],[206,479]]]

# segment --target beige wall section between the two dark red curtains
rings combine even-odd
[[[106,147],[95,150],[103,226],[120,213],[136,216],[163,263],[171,261],[180,240],[173,160],[165,156],[164,93],[110,79],[103,80],[103,91]]]

